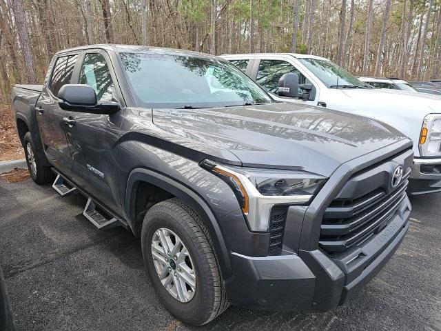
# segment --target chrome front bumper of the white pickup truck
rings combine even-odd
[[[441,159],[413,159],[407,193],[415,196],[435,192],[441,192]]]

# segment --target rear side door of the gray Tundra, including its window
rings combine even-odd
[[[60,108],[56,96],[61,86],[70,83],[76,59],[74,54],[55,60],[52,76],[43,88],[35,110],[46,157],[55,168],[68,175],[72,174],[72,159],[63,122],[67,112]]]

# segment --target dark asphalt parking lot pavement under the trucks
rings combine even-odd
[[[79,194],[0,180],[0,263],[18,330],[441,330],[441,194],[412,199],[402,245],[356,299],[331,312],[230,307],[192,328],[156,299],[141,243],[98,231]]]

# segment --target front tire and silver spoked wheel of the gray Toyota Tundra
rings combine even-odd
[[[168,235],[168,238],[172,241],[173,237],[177,236],[177,239],[174,238],[174,243],[172,242],[175,246],[177,240],[182,242],[182,252],[179,254],[184,254],[184,248],[189,253],[189,256],[184,260],[184,264],[179,264],[180,261],[183,261],[181,255],[165,257],[165,261],[167,261],[167,258],[176,259],[174,264],[170,260],[167,261],[168,264],[159,262],[157,258],[154,260],[152,250],[156,254],[157,248],[161,248],[158,246],[162,243],[161,233]],[[155,248],[152,247],[152,244]],[[177,319],[192,325],[203,325],[215,319],[228,308],[229,303],[207,229],[201,218],[183,201],[176,198],[169,199],[157,203],[148,210],[143,222],[141,245],[144,263],[154,289],[165,308]],[[164,252],[161,255],[161,259],[165,254]],[[156,254],[156,256],[158,255]],[[173,282],[169,285],[171,290],[170,288],[167,290],[165,285],[161,283],[156,268],[157,265],[160,265],[159,268],[161,268],[161,265],[165,265],[168,270],[165,273],[169,275],[163,277],[165,283],[167,283],[167,279],[170,279],[172,273],[175,275],[174,277],[171,276],[173,279]],[[181,266],[181,269],[179,266]],[[195,275],[194,288],[196,290],[193,291],[191,284],[189,285],[192,282],[185,283],[184,290],[181,290],[181,292],[185,292],[185,289],[188,292],[178,298],[179,293],[177,294],[178,297],[172,294],[173,286],[175,286],[174,280],[176,279],[176,283],[182,283],[184,277],[181,277],[179,271],[183,272],[191,268],[192,270],[187,272],[187,275]],[[185,279],[191,278],[187,277]]]

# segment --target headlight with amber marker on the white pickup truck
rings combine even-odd
[[[429,114],[424,119],[420,134],[420,153],[422,157],[441,155],[441,116]]]

